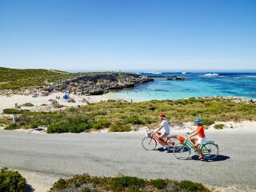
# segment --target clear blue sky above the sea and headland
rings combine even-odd
[[[0,66],[256,70],[256,1],[1,0]]]

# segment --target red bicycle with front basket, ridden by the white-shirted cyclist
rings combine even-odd
[[[153,130],[146,130],[146,138],[142,139],[142,146],[145,150],[154,150],[158,143],[161,146],[174,146],[178,142],[178,135],[168,135],[164,142],[162,142],[156,133]]]

